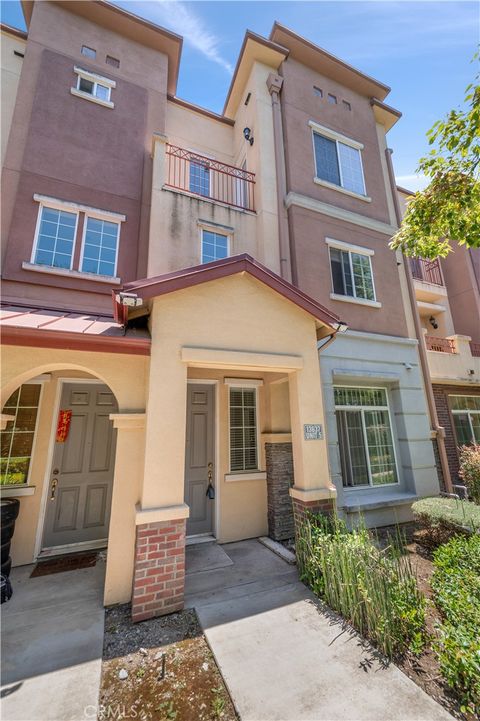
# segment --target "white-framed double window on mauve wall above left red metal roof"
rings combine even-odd
[[[47,196],[35,195],[34,200],[40,203],[37,229],[31,261],[24,263],[24,268],[48,268],[60,274],[82,274],[95,280],[119,282],[116,273],[124,215]],[[80,217],[83,217],[83,236],[79,232]],[[81,248],[75,252],[79,244]]]

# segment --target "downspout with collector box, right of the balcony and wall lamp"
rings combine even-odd
[[[277,214],[278,214],[278,244],[280,250],[280,275],[289,283],[292,282],[292,263],[290,257],[290,238],[288,232],[288,218],[285,210],[285,197],[287,195],[287,174],[285,170],[285,149],[283,143],[283,123],[280,107],[280,90],[283,78],[270,73],[267,78],[268,92],[272,97],[273,116],[273,142],[275,146],[275,175],[277,183]]]

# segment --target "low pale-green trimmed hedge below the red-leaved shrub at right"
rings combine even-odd
[[[453,534],[480,531],[480,507],[470,501],[422,498],[412,504],[412,511],[436,543],[448,541]]]

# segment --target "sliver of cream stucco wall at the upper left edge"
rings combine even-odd
[[[1,52],[1,80],[0,80],[0,92],[1,92],[1,109],[0,109],[0,122],[1,122],[1,153],[2,153],[2,167],[3,160],[5,158],[5,151],[8,143],[8,136],[10,133],[10,126],[12,124],[13,111],[15,108],[15,101],[17,99],[17,89],[20,80],[20,73],[22,72],[23,59],[14,55],[14,50],[19,53],[25,53],[26,41],[21,40],[10,33],[2,31],[0,41],[0,52]]]

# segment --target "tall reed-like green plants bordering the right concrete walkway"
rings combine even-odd
[[[297,558],[302,580],[386,656],[422,650],[425,598],[408,559],[379,550],[365,529],[313,516],[299,529]]]

